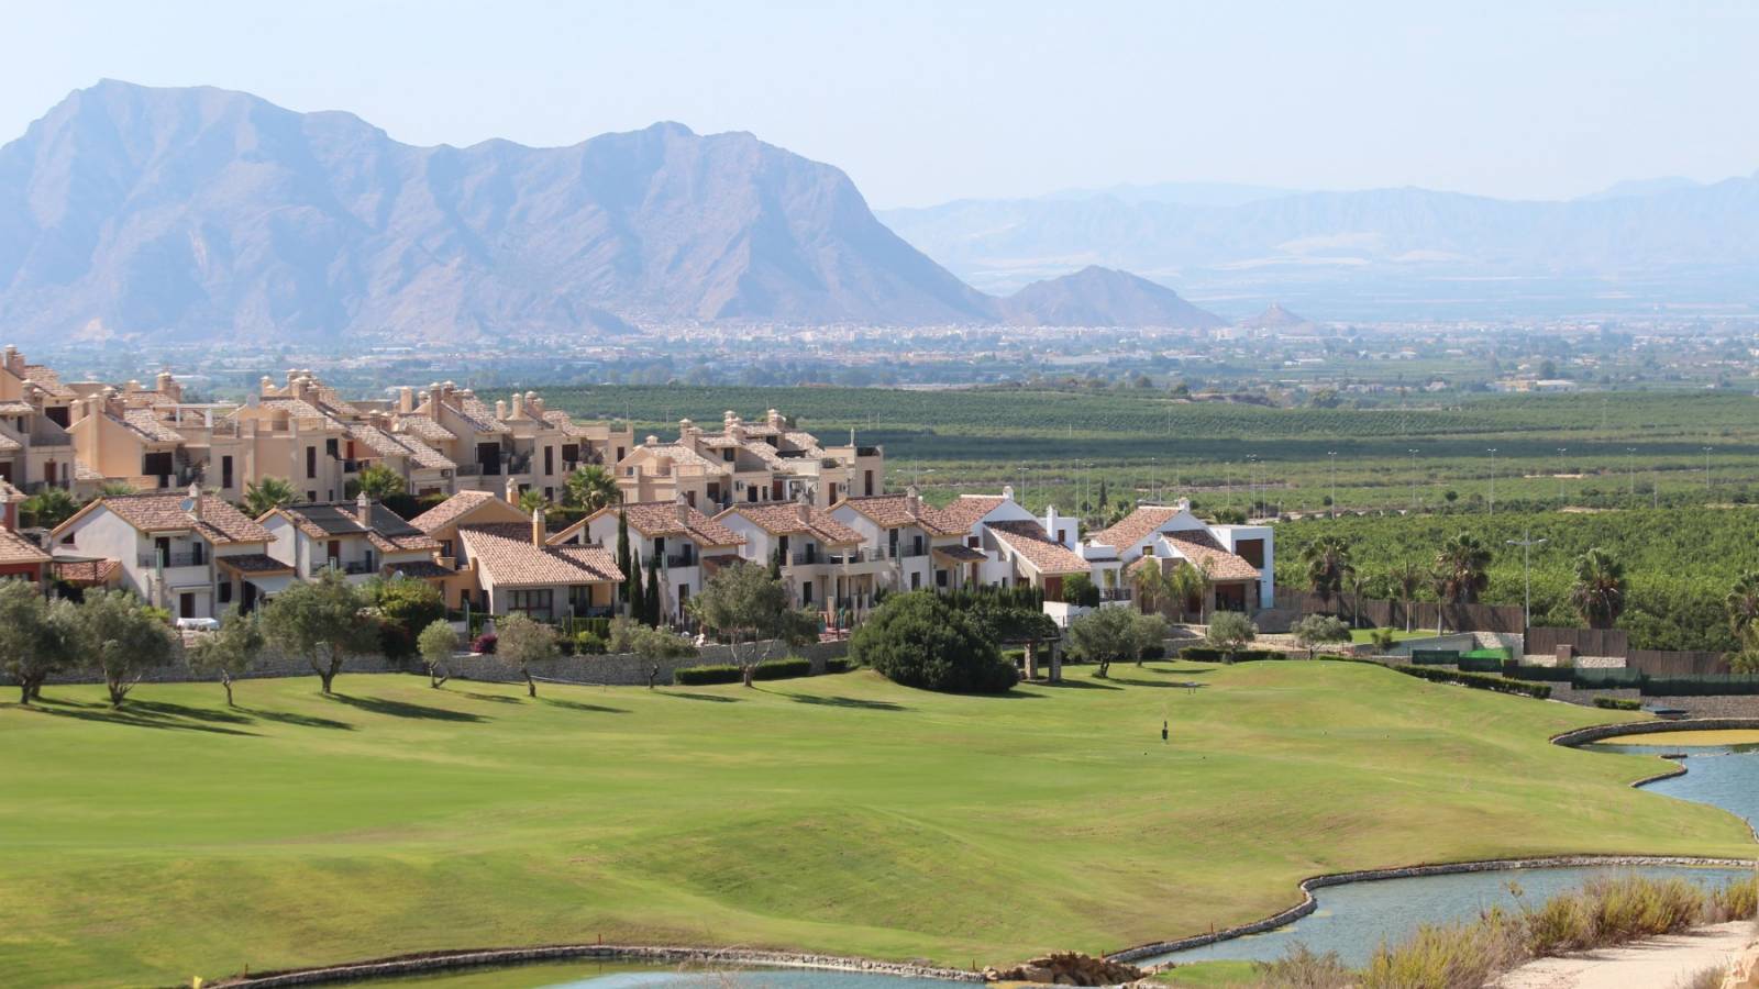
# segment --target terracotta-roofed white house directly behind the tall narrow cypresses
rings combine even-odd
[[[711,519],[686,502],[642,502],[600,509],[561,530],[556,546],[600,546],[616,553],[617,517],[628,519],[630,553],[642,572],[660,561],[660,612],[667,621],[684,621],[690,598],[719,567],[739,560],[744,537]]]

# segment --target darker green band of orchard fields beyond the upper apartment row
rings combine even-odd
[[[1034,509],[1191,496],[1200,509],[1627,507],[1759,502],[1759,398],[1740,392],[1412,394],[1376,408],[1191,403],[1159,389],[549,389],[554,408],[637,436],[779,408],[825,442],[880,443],[894,484],[1013,484]],[[1708,456],[1704,447],[1710,447]],[[1414,451],[1414,452],[1412,452]],[[1495,452],[1492,452],[1495,451]],[[1708,472],[1706,472],[1708,465]]]

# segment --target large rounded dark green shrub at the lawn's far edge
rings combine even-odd
[[[1001,693],[1020,679],[978,623],[932,591],[888,595],[850,637],[850,658],[925,690]]]

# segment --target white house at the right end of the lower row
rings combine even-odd
[[[1138,505],[1117,524],[1082,546],[1101,588],[1128,588],[1136,567],[1200,567],[1210,579],[1205,614],[1275,607],[1275,538],[1272,526],[1210,524],[1191,514],[1191,502]]]

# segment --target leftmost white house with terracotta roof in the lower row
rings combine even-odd
[[[234,602],[248,611],[294,581],[292,567],[269,556],[267,530],[195,486],[97,498],[49,540],[56,570],[86,565],[178,618],[215,618]]]

